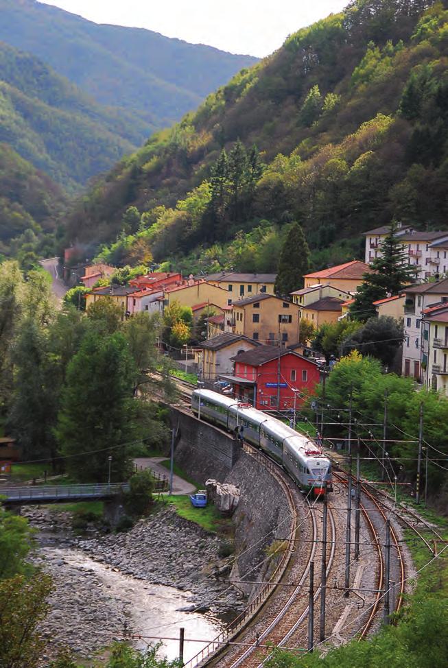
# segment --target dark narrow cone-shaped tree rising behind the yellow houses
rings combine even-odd
[[[294,223],[287,234],[279,258],[275,289],[287,297],[303,287],[303,276],[309,271],[309,248],[303,229]]]

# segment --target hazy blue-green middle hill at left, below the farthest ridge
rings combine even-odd
[[[0,110],[0,141],[72,191],[148,136],[147,121],[98,104],[47,64],[3,42]]]

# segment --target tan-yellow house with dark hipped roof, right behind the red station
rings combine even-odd
[[[234,333],[262,344],[287,345],[298,341],[299,308],[270,294],[233,303]]]

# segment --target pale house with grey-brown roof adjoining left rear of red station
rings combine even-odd
[[[232,374],[233,357],[259,345],[253,339],[226,332],[207,339],[200,344],[203,351],[202,378],[213,382],[219,374]]]

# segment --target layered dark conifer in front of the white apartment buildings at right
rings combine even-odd
[[[381,255],[370,264],[371,272],[363,274],[363,283],[350,307],[355,320],[368,320],[376,315],[373,302],[388,295],[397,295],[415,279],[415,269],[408,262],[397,228],[392,224],[388,236],[381,243]]]

